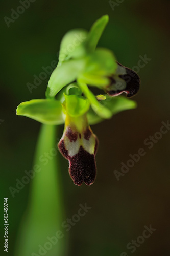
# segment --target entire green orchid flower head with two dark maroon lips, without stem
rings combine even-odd
[[[118,63],[112,51],[96,48],[107,22],[105,15],[89,32],[76,29],[66,33],[61,41],[57,68],[47,85],[46,99],[22,102],[17,108],[17,115],[44,124],[65,123],[58,147],[69,161],[70,177],[78,186],[83,182],[91,185],[96,177],[98,139],[89,125],[136,107],[127,97],[138,92],[138,75]],[[95,96],[89,86],[104,94]],[[127,97],[113,97],[123,92]]]

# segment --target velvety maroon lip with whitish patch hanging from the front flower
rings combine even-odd
[[[89,126],[80,131],[74,124],[68,124],[58,143],[61,154],[69,161],[69,175],[80,186],[93,184],[96,177],[95,155],[98,139]]]

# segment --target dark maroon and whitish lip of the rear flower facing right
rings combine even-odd
[[[116,74],[110,77],[110,85],[106,92],[110,96],[117,96],[125,92],[127,97],[134,96],[140,87],[140,78],[137,73],[118,63]]]

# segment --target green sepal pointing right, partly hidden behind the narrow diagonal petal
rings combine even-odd
[[[135,101],[128,99],[124,96],[109,97],[106,95],[106,100],[102,100],[102,105],[105,105],[115,115],[124,110],[135,109],[137,104]],[[96,113],[90,108],[87,113],[89,124],[96,124],[102,122],[104,119],[97,116]]]

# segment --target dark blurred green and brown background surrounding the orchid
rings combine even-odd
[[[69,231],[70,256],[168,255],[169,249],[169,141],[170,131],[149,150],[143,141],[160,131],[161,122],[169,120],[169,11],[168,0],[115,1],[36,0],[7,27],[4,17],[11,17],[19,1],[1,0],[1,205],[8,197],[9,252],[12,256],[19,223],[25,212],[30,183],[13,198],[15,187],[25,170],[32,169],[40,124],[15,115],[22,101],[44,98],[47,78],[33,89],[34,75],[42,67],[57,61],[62,36],[72,28],[89,29],[104,14],[110,17],[99,46],[115,53],[117,60],[132,68],[139,56],[151,60],[139,70],[140,92],[134,98],[138,108],[122,112],[92,126],[100,146],[96,155],[98,176],[92,186],[75,186],[68,175],[68,162],[60,156],[66,217],[77,214],[79,204],[91,209]],[[60,127],[60,139],[63,126]],[[114,170],[130,159],[139,148],[147,152],[117,181]],[[1,225],[3,224],[3,215]],[[127,244],[142,235],[144,225],[157,230],[134,253]],[[1,229],[1,254],[4,252]],[[125,254],[126,255],[126,254]],[[23,255],[24,256],[24,255]],[[122,254],[124,256],[124,254]]]

